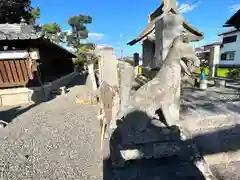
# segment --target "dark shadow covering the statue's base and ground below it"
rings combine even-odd
[[[139,129],[145,129],[144,127],[148,127],[148,130],[152,130],[154,134],[144,130],[138,131]],[[166,134],[167,129],[168,134]],[[151,136],[150,139],[149,136]],[[126,143],[124,140],[133,138],[136,141],[141,141],[141,139],[151,140],[151,138],[156,137],[161,139],[158,151],[162,152],[157,158],[123,161],[120,151],[125,149],[137,149],[141,154],[149,155],[148,150],[144,148],[145,145],[148,146],[149,144]],[[181,148],[177,148],[175,152],[171,143],[176,143],[177,147]],[[109,143],[110,155],[103,161],[103,179],[205,180],[202,172],[194,164],[196,160],[194,150],[189,148],[187,143],[191,142],[180,140],[178,128],[157,127],[150,122],[150,118],[144,112],[133,112],[126,116],[121,123],[118,123],[117,129],[112,133]]]

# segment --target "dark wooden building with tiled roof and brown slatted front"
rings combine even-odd
[[[40,86],[74,71],[72,52],[25,23],[0,24],[0,88]]]

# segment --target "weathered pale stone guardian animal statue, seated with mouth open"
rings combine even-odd
[[[175,125],[179,120],[181,73],[190,75],[193,67],[199,65],[200,60],[193,48],[185,42],[185,36],[177,36],[160,71],[130,97],[128,105],[121,109],[118,118],[136,110],[145,112],[149,117],[161,112],[166,126]]]

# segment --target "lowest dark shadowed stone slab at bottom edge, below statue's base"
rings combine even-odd
[[[204,174],[193,162],[176,157],[134,161],[124,168],[114,168],[113,172],[112,179],[118,180],[216,180],[214,176]]]

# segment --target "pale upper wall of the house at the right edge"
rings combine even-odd
[[[224,44],[221,48],[221,54],[227,51],[236,51],[235,58],[233,61],[221,61],[219,62],[220,65],[240,65],[240,32],[235,32],[227,35],[223,35],[223,37],[237,35],[237,41],[233,43]],[[221,58],[221,55],[220,55]]]

